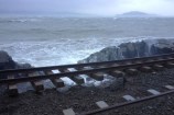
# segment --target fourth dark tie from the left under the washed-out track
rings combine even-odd
[[[67,68],[65,69],[58,69],[61,72],[70,72],[70,70],[68,70]],[[77,78],[77,77],[74,77],[74,76],[70,76],[70,79],[76,82],[77,84],[83,84],[85,83],[84,79],[83,78]]]

